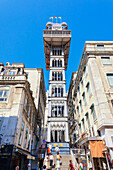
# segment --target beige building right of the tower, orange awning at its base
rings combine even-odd
[[[85,43],[73,90],[75,142],[102,168],[113,160],[113,41]]]

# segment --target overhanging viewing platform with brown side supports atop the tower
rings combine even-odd
[[[68,25],[65,22],[46,24],[46,30],[43,30],[44,50],[46,60],[46,70],[50,70],[50,56],[52,49],[62,49],[64,54],[65,70],[67,70],[69,48],[71,41],[71,30],[67,30]]]

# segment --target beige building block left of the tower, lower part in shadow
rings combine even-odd
[[[34,78],[34,81],[33,81]],[[45,85],[42,69],[0,63],[0,167],[37,168],[43,133]],[[5,155],[5,156],[4,156]],[[7,162],[7,164],[5,163]]]

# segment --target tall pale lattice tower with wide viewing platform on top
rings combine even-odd
[[[43,32],[46,69],[50,70],[47,141],[69,143],[65,70],[71,31],[66,23],[47,23]],[[65,145],[65,144],[64,144]]]

